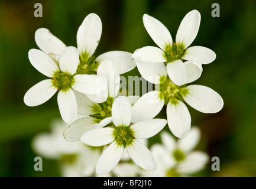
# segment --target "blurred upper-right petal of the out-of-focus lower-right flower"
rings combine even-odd
[[[197,126],[193,126],[186,137],[179,139],[177,141],[177,146],[184,152],[192,151],[199,143],[201,138],[200,130]]]

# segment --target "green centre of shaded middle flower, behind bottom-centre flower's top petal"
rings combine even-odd
[[[90,116],[92,118],[96,118],[97,123],[101,122],[102,119],[112,116],[111,110],[113,102],[114,99],[112,97],[108,97],[108,99],[106,99],[106,101],[103,103],[95,103],[92,106],[93,112],[95,112],[95,114]]]

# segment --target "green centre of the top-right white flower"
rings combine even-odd
[[[173,43],[171,46],[170,44],[166,45],[164,50],[164,57],[166,58],[166,63],[173,62],[175,60],[182,60],[182,57],[185,55],[186,49],[184,48],[183,44],[176,44]]]

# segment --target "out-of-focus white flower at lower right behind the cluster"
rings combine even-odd
[[[200,130],[196,126],[182,139],[175,140],[169,133],[161,133],[163,145],[154,144],[151,152],[157,161],[157,170],[144,172],[147,177],[188,177],[205,168],[209,155],[193,151],[200,140]]]

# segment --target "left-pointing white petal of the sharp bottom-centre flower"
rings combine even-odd
[[[97,128],[85,132],[80,141],[90,146],[103,146],[114,141],[114,128]]]

